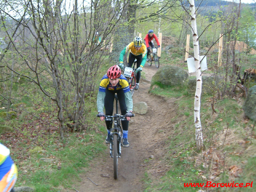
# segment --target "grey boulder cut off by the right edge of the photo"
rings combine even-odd
[[[256,120],[256,85],[249,89],[244,101],[243,109],[246,117]]]

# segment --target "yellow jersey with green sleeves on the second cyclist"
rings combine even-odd
[[[146,60],[147,60],[147,47],[144,43],[142,43],[142,46],[140,47],[140,49],[137,51],[134,47],[134,43],[131,42],[130,44],[128,44],[124,49],[123,51],[120,52],[120,55],[119,55],[119,62],[120,63],[123,63],[123,58],[124,58],[124,55],[126,52],[130,52],[132,53],[133,55],[135,56],[138,56],[138,55],[142,55],[142,61],[141,61],[141,64],[140,64],[140,67],[144,67],[145,63],[146,63]]]

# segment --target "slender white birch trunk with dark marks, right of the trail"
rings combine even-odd
[[[194,0],[189,0],[190,3],[190,12],[191,12],[191,28],[193,35],[193,44],[194,44],[194,60],[196,67],[196,94],[194,102],[194,124],[196,128],[196,148],[201,150],[203,148],[203,133],[202,125],[200,121],[200,104],[201,104],[201,92],[202,92],[202,76],[201,76],[201,67],[200,67],[200,56],[199,56],[199,41],[196,28],[196,11],[195,11],[195,2]]]

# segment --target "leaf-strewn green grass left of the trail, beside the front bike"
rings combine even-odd
[[[81,168],[88,168],[93,158],[107,150],[103,141],[102,133],[90,130],[84,134],[70,134],[63,143],[52,141],[52,145],[44,147],[31,145],[25,152],[26,161],[16,161],[19,170],[17,185],[28,184],[38,192],[56,192],[71,187],[74,180],[81,181],[79,174],[86,170]],[[16,155],[12,157],[19,159]]]

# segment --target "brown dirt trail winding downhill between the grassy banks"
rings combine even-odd
[[[161,67],[161,66],[160,66]],[[164,155],[164,139],[170,135],[166,134],[165,128],[170,128],[170,119],[167,111],[175,110],[173,100],[164,100],[161,97],[148,93],[152,76],[158,69],[155,66],[149,67],[145,64],[143,71],[146,79],[141,79],[140,89],[134,92],[133,103],[145,101],[148,105],[148,112],[145,115],[135,114],[129,123],[128,141],[130,147],[122,148],[122,157],[118,159],[118,180],[113,178],[113,159],[109,152],[102,154],[101,158],[91,163],[90,171],[82,176],[82,182],[74,189],[66,192],[140,192],[143,191],[141,179],[144,177],[145,168],[158,177],[166,167],[160,162]],[[161,129],[161,132],[159,131]],[[144,162],[154,156],[154,167]]]

